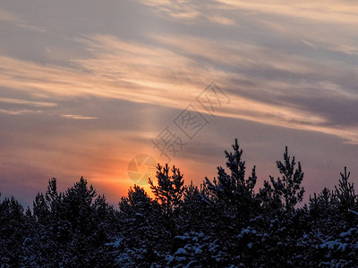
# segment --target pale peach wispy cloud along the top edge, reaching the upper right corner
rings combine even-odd
[[[358,51],[354,26],[358,23],[358,7],[352,1],[301,1],[290,4],[282,0],[269,3],[240,0],[140,2],[152,7],[153,13],[166,14],[167,18],[177,22],[200,25],[203,21],[210,21],[226,26],[227,32],[238,35],[228,37],[231,39],[260,35],[260,41],[266,46],[270,46],[269,43],[275,39],[276,46],[280,42],[295,46],[294,42],[300,42],[301,38],[319,51],[318,54],[333,52],[352,55]],[[262,29],[266,30],[262,32]]]

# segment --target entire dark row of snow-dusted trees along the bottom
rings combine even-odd
[[[255,191],[255,167],[245,176],[237,140],[226,167],[200,187],[184,185],[175,166],[158,165],[119,209],[81,178],[58,192],[56,180],[24,210],[0,202],[1,267],[357,267],[358,197],[341,173],[300,205],[303,171],[286,151],[279,178]]]

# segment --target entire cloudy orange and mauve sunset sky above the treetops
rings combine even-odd
[[[213,178],[238,138],[259,187],[285,146],[305,200],[345,166],[357,184],[357,26],[345,0],[0,0],[2,197],[31,205],[48,179],[84,176],[116,205],[133,157],[166,163],[164,130],[186,183]]]

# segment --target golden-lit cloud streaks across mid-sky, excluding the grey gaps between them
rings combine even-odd
[[[301,75],[315,73],[318,76],[321,74],[328,76],[329,73],[336,71],[335,67],[325,67],[319,63],[311,63],[309,59],[300,56],[269,51],[260,46],[210,42],[205,39],[183,36],[155,37],[154,39],[175,47],[178,51],[156,46],[141,46],[111,36],[86,37],[79,41],[90,51],[92,57],[72,59],[72,63],[75,64],[72,68],[47,66],[2,57],[0,85],[8,88],[21,88],[33,96],[42,94],[47,98],[59,97],[61,99],[68,96],[93,95],[180,109],[194,99],[195,95],[202,90],[205,81],[212,77],[215,77],[218,83],[221,82],[224,88],[239,87],[243,90],[251,88],[227,81],[239,77],[243,80],[255,81],[264,90],[270,90],[274,95],[296,94],[290,91],[302,86],[290,85],[285,80],[256,80],[255,77],[251,78],[251,75],[220,71],[215,68],[213,64],[215,61],[240,68],[254,68],[265,63],[268,65],[263,66],[273,71],[289,70]],[[192,57],[198,56],[205,59],[207,63],[200,65],[192,60]],[[357,99],[355,94],[347,93],[337,85],[324,80],[317,87],[332,96]],[[183,90],[186,90],[187,94],[183,95],[181,93]],[[325,126],[325,118],[310,111],[303,111],[300,107],[269,104],[240,95],[230,97],[233,99],[232,105],[219,115],[299,130],[321,131],[349,139],[353,143],[358,142],[354,134],[355,127],[351,130],[341,130],[336,126]],[[10,104],[26,103],[20,99],[10,98],[1,98],[0,101]],[[39,101],[27,101],[27,103],[34,106],[55,105]],[[21,111],[13,113],[21,113]],[[97,119],[96,116],[85,115],[63,114],[62,116],[77,120]]]

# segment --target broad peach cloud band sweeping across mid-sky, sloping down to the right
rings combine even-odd
[[[358,104],[353,88],[358,71],[354,66],[345,66],[342,71],[339,66],[317,63],[304,55],[238,41],[189,35],[152,39],[158,46],[106,35],[78,38],[91,56],[72,59],[72,68],[3,57],[0,86],[55,99],[90,95],[181,109],[209,80],[215,80],[233,100],[218,113],[221,116],[319,131],[358,143],[357,126],[345,119],[348,111],[343,105],[348,100]],[[183,95],[183,90],[187,94]],[[330,105],[337,110],[328,111],[321,105],[322,96],[323,100],[335,99]],[[311,105],[312,99],[316,105]],[[326,111],[322,113],[322,109]],[[349,112],[358,116],[353,110]],[[77,120],[96,119],[64,114]]]

